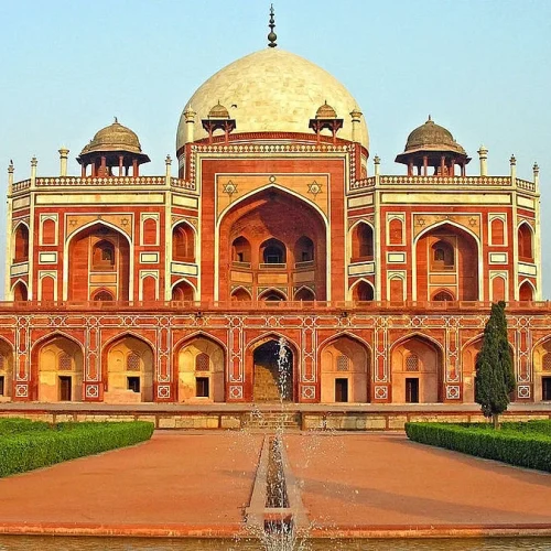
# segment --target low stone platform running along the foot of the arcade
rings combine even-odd
[[[282,423],[291,430],[403,430],[409,421],[485,422],[477,404],[235,404],[205,406],[137,403],[21,403],[0,406],[0,417],[25,417],[47,422],[151,421],[155,429],[258,429]],[[511,403],[504,421],[551,419],[551,403]]]

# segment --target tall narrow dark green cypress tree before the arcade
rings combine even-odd
[[[507,338],[505,302],[501,301],[491,305],[476,360],[475,400],[483,414],[491,418],[494,429],[499,429],[499,414],[507,410],[514,390],[515,372]]]

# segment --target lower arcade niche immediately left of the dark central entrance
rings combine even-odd
[[[182,344],[175,354],[179,402],[223,402],[225,355],[223,347],[203,336]]]

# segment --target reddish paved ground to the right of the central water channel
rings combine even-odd
[[[314,434],[287,442],[316,525],[551,529],[550,474],[417,444],[403,434]]]

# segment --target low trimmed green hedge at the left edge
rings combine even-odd
[[[60,423],[0,436],[0,477],[149,440],[153,423]]]

